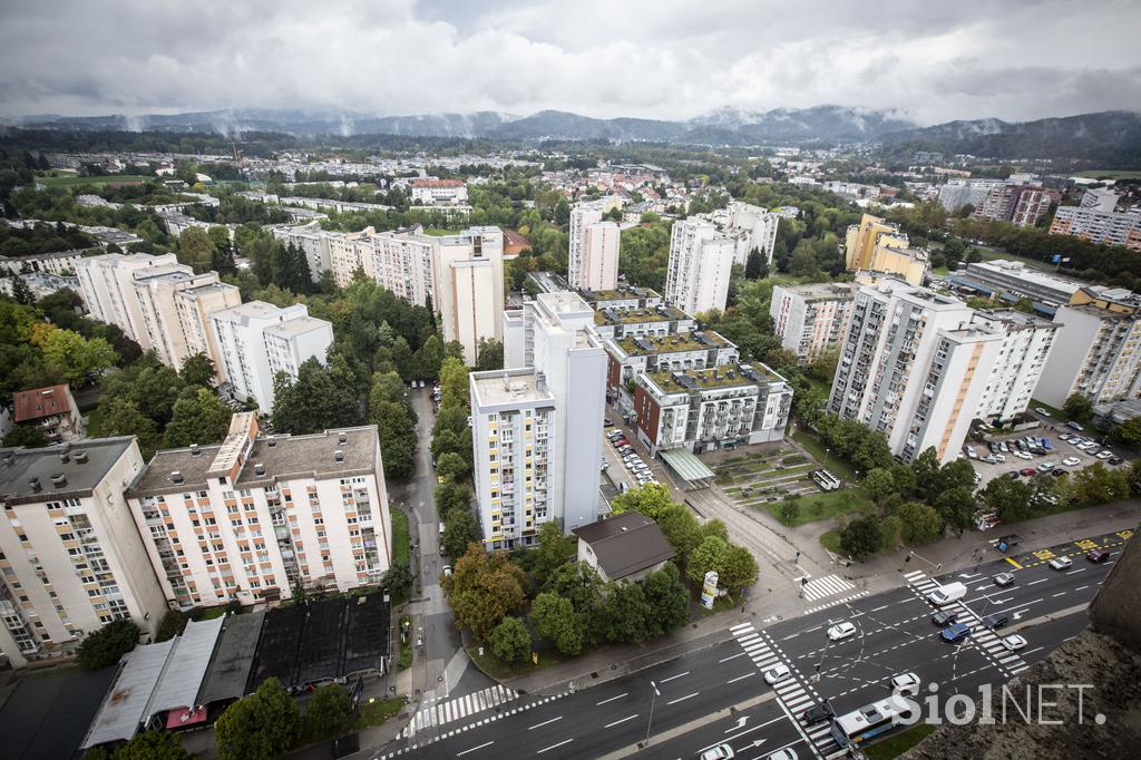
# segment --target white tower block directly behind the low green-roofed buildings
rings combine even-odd
[[[665,302],[687,314],[723,309],[736,244],[705,219],[679,219],[670,231]]]

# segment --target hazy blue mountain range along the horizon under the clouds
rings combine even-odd
[[[593,119],[563,111],[518,116],[470,114],[377,116],[348,111],[235,108],[141,116],[25,116],[2,123],[67,130],[246,131],[324,135],[400,135],[492,140],[620,140],[678,145],[811,145],[883,143],[889,155],[909,151],[1058,160],[1123,160],[1141,164],[1141,116],[1125,111],[1020,123],[980,119],[919,127],[897,111],[848,106],[743,111],[718,108],[688,121]]]

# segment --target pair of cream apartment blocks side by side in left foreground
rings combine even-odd
[[[391,564],[375,427],[258,435],[235,414],[218,446],[133,437],[0,450],[0,650],[68,652],[116,618],[153,634],[167,609],[375,584]]]

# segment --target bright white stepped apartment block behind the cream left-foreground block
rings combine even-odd
[[[274,405],[274,377],[296,378],[311,357],[324,364],[333,342],[333,326],[309,316],[304,304],[284,309],[250,301],[210,315],[219,365],[237,399],[252,399],[268,412]]]

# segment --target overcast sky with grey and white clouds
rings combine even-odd
[[[1141,111],[1130,0],[2,0],[0,115]]]

